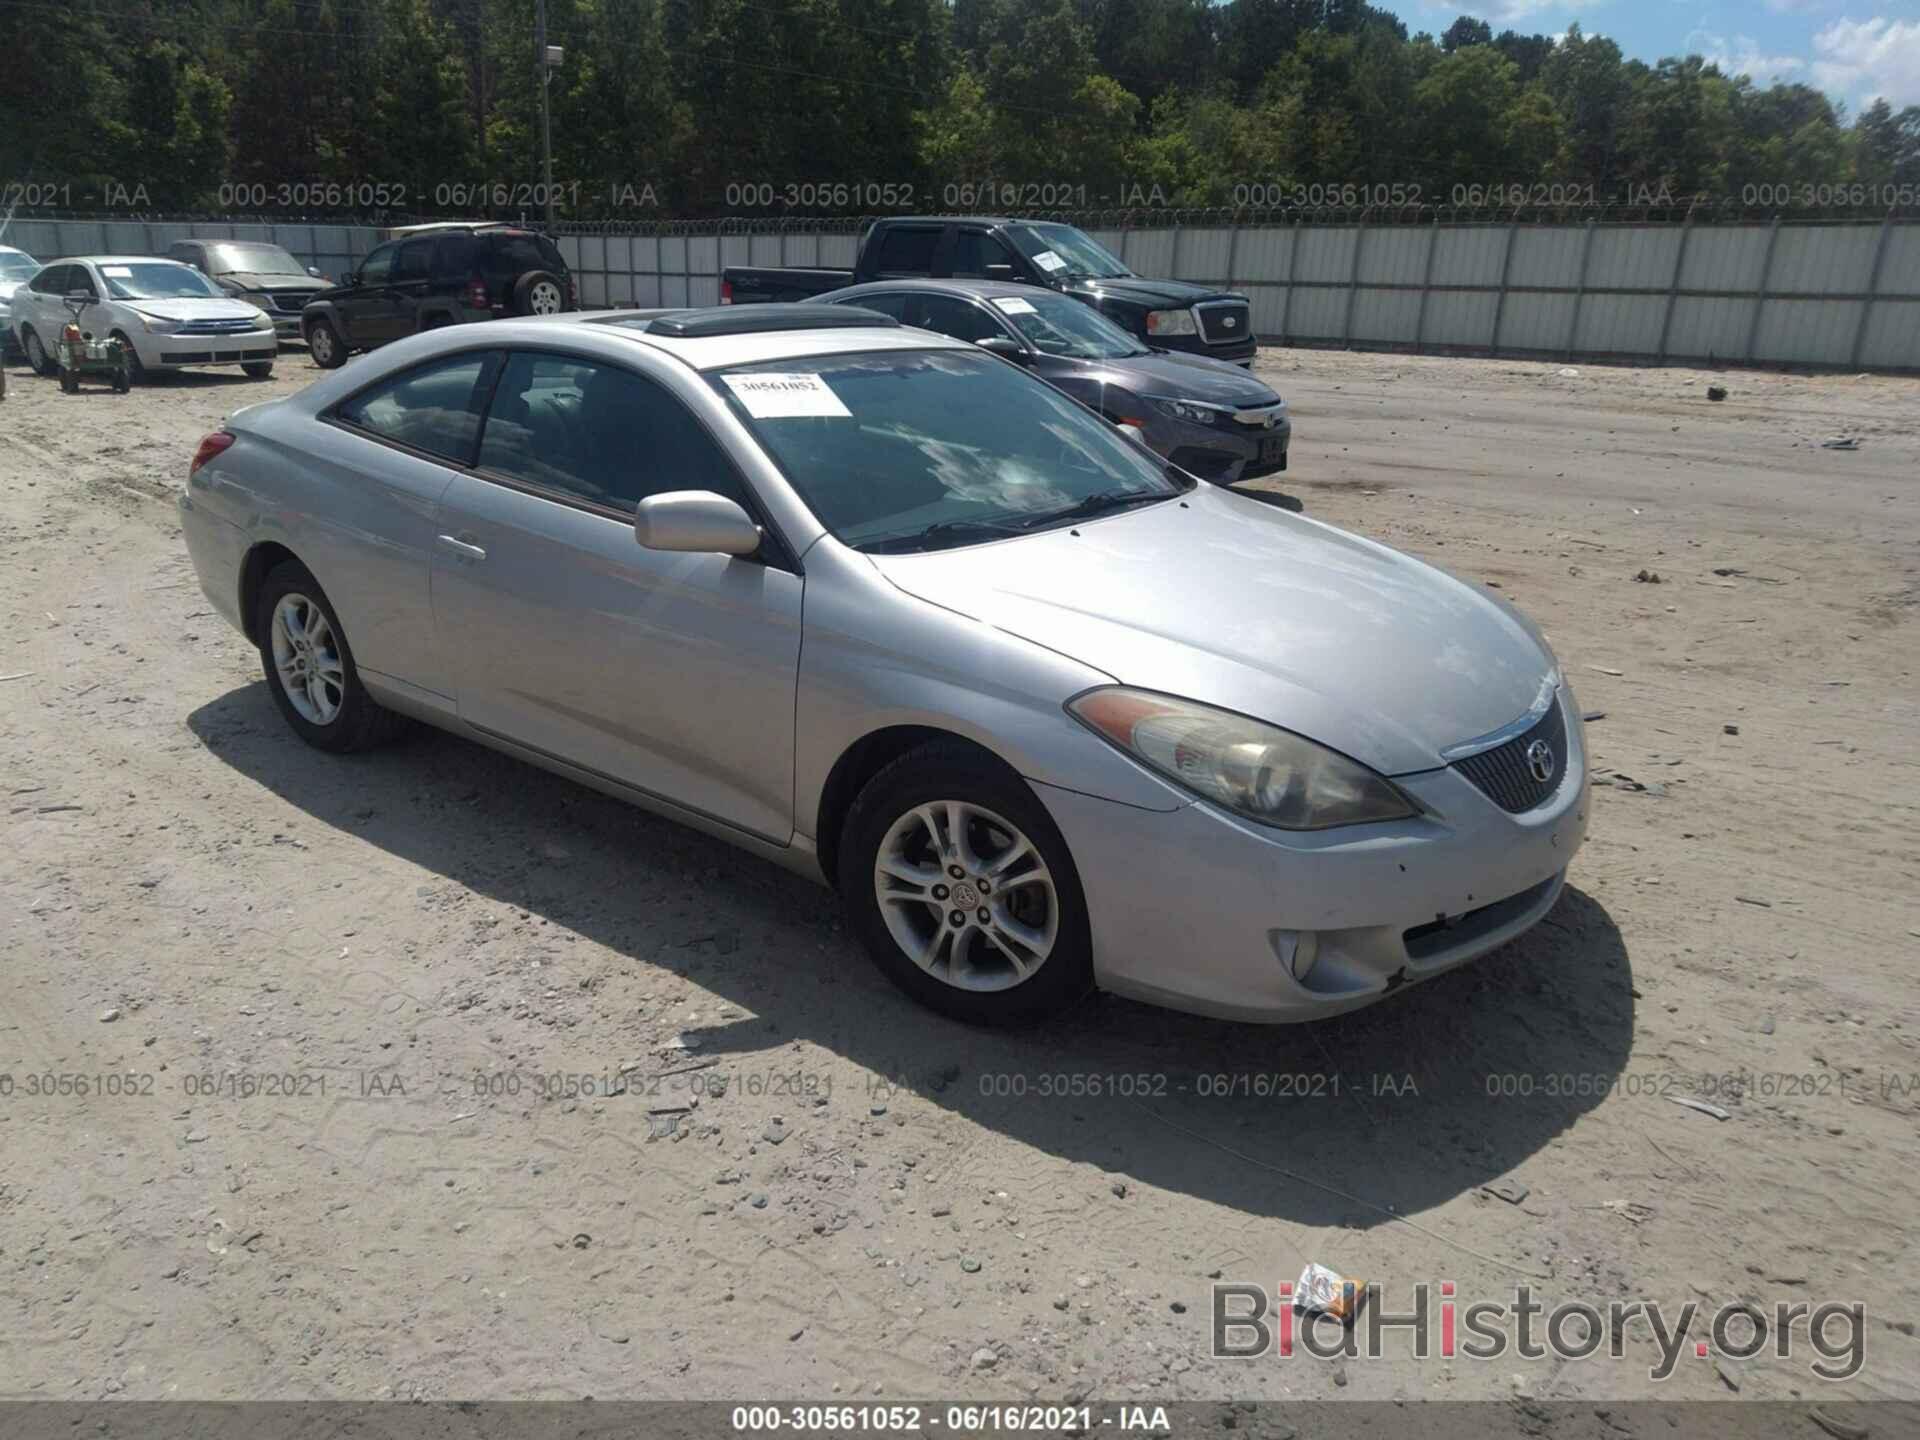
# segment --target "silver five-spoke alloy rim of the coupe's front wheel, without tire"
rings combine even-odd
[[[900,950],[960,991],[1031,979],[1060,937],[1060,897],[1039,847],[968,801],[918,804],[887,829],[874,897]]]

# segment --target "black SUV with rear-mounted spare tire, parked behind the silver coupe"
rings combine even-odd
[[[574,309],[574,280],[547,236],[516,225],[415,225],[313,296],[300,332],[313,363],[330,371],[355,349],[419,330],[564,309]]]

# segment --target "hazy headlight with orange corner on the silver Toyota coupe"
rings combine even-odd
[[[1290,730],[1212,705],[1110,685],[1068,714],[1202,799],[1277,829],[1419,814],[1398,785]]]

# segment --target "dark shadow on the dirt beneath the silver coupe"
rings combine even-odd
[[[286,730],[263,682],[200,707],[188,728],[313,820],[737,1006],[745,1018],[689,1031],[728,1073],[791,1075],[791,1046],[808,1041],[858,1068],[812,1081],[833,1087],[835,1106],[920,1094],[1094,1165],[1104,1187],[1380,1225],[1515,1173],[1524,1183],[1528,1158],[1599,1104],[1632,1046],[1626,943],[1574,887],[1494,954],[1311,1025],[1102,995],[1035,1029],[981,1031],[895,991],[828,891],[461,737],[422,728],[382,751],[321,755]],[[451,975],[449,1008],[476,981],[457,964],[436,973]],[[637,985],[593,979],[622,983]],[[597,1060],[580,1056],[580,1069]]]

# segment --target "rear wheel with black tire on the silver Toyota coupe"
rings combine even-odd
[[[267,689],[307,745],[344,755],[394,739],[405,720],[367,695],[353,649],[307,566],[282,561],[253,605]]]

